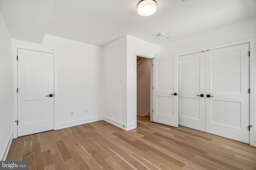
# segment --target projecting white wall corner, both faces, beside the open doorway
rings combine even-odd
[[[137,126],[135,103],[137,54],[158,57],[159,46],[126,35],[104,47],[104,120],[125,130]]]

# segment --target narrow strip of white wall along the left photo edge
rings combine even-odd
[[[0,160],[12,137],[12,41],[0,14]]]

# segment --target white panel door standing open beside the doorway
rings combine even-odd
[[[178,127],[178,57],[154,59],[153,121]]]

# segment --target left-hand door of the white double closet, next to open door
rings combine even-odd
[[[179,57],[179,66],[179,125],[205,131],[204,52]]]

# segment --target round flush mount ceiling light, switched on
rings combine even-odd
[[[138,4],[138,14],[141,16],[151,16],[156,12],[156,1],[142,0]]]

